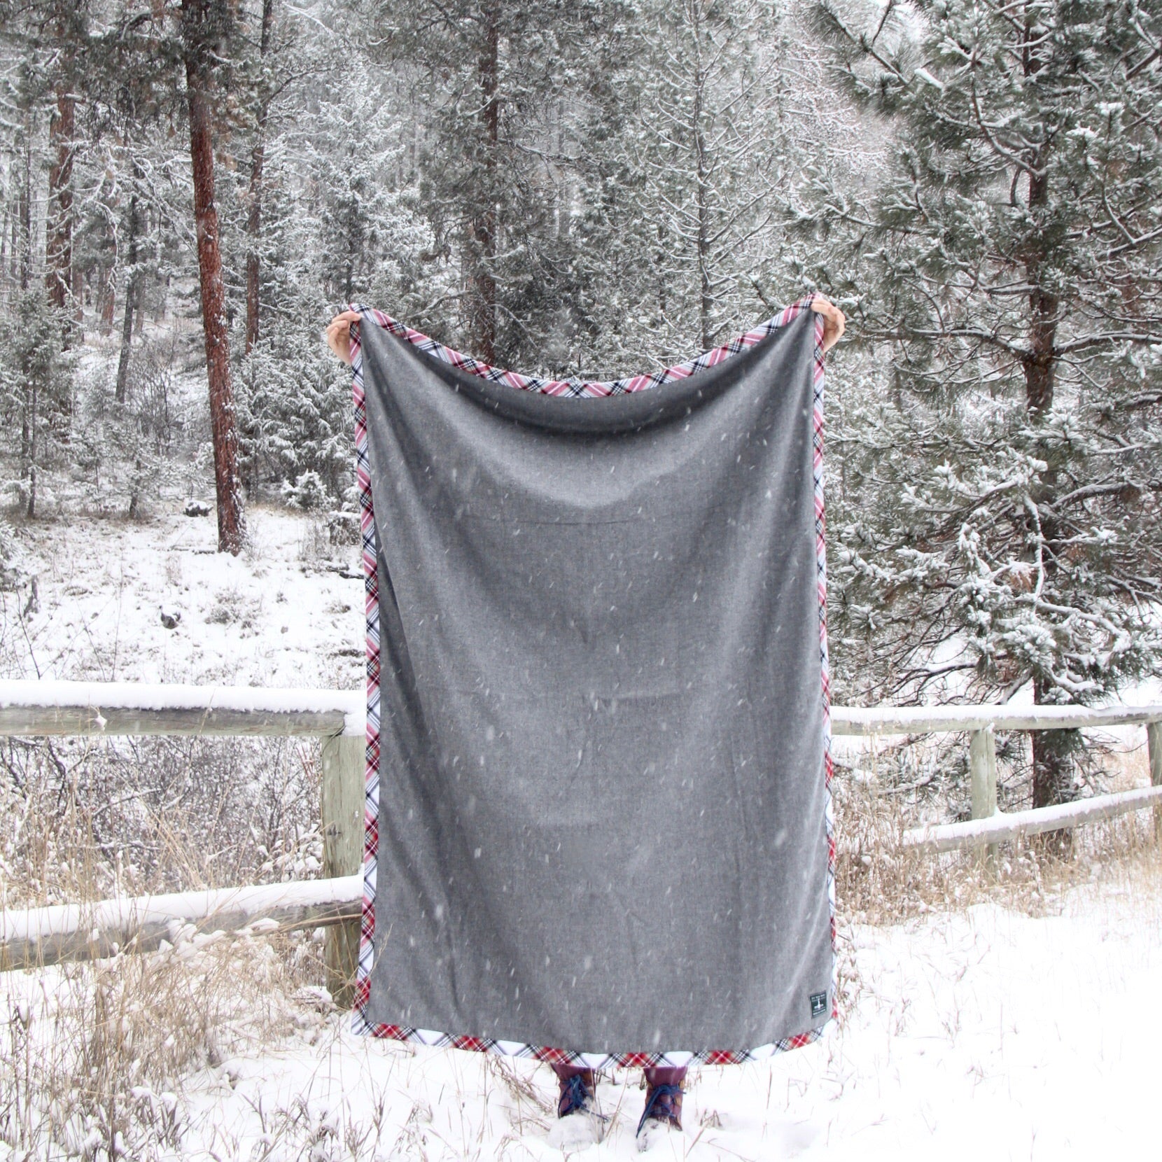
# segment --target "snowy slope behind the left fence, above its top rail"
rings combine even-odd
[[[8,595],[21,660],[5,676],[363,688],[357,546],[330,545],[322,518],[252,505],[251,544],[230,557],[213,512],[180,509],[26,525],[40,611],[21,622]],[[174,629],[163,609],[180,614]]]

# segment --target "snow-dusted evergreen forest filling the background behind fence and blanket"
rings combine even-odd
[[[611,379],[811,290],[835,701],[1156,677],[1156,3],[0,0],[0,584],[37,522],[352,511],[347,303]]]

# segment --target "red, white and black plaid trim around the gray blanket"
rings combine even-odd
[[[753,347],[773,331],[786,327],[806,310],[813,294],[787,307],[774,318],[760,323],[754,329],[740,335],[730,343],[705,351],[686,363],[675,364],[648,375],[632,375],[627,379],[593,382],[588,380],[566,379],[550,380],[537,375],[522,375],[518,372],[492,367],[471,356],[453,351],[443,343],[437,343],[419,331],[397,322],[389,315],[373,307],[352,303],[351,309],[360,315],[361,323],[373,323],[390,331],[393,335],[415,344],[421,351],[443,359],[453,367],[480,375],[495,383],[508,383],[510,387],[525,392],[539,392],[544,395],[566,397],[600,399],[609,395],[624,395],[629,392],[641,392],[674,380],[687,379],[696,372],[720,364],[724,359]],[[433,1030],[411,1028],[406,1025],[376,1025],[366,1017],[367,997],[371,990],[371,968],[375,933],[375,875],[379,852],[379,579],[376,575],[378,546],[375,543],[375,521],[372,508],[371,466],[367,452],[367,409],[364,402],[363,352],[359,344],[359,325],[351,327],[351,372],[352,392],[356,410],[356,480],[359,488],[359,525],[361,530],[364,582],[366,588],[365,610],[367,619],[367,768],[366,792],[364,798],[364,892],[363,924],[359,941],[359,968],[356,978],[356,1009],[353,1027],[357,1033],[368,1037],[382,1037],[395,1041],[414,1041],[421,1045],[469,1049],[475,1053],[496,1053],[503,1056],[531,1057],[550,1064],[578,1064],[588,1069],[608,1069],[612,1066],[623,1068],[644,1066],[686,1066],[691,1061],[711,1066],[740,1064],[745,1061],[760,1061],[798,1049],[822,1037],[822,1030],[809,1028],[794,1037],[786,1037],[770,1045],[761,1045],[751,1049],[696,1049],[668,1050],[665,1053],[581,1053],[573,1049],[558,1049],[544,1046],[525,1045],[519,1041],[497,1041],[487,1037],[452,1035]],[[816,526],[816,569],[819,593],[819,659],[823,673],[823,731],[824,731],[824,782],[827,788],[825,819],[827,842],[827,902],[831,913],[831,947],[835,949],[835,839],[834,816],[831,804],[831,677],[827,667],[827,561],[824,545],[824,500],[823,500],[823,395],[825,365],[823,354],[823,316],[815,320],[815,409],[812,422],[812,453],[815,481],[815,526]],[[838,1014],[835,1002],[835,967],[832,968],[831,1016]]]

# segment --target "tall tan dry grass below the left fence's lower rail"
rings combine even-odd
[[[152,1159],[178,1149],[182,1081],[284,1038],[322,977],[307,933],[185,925],[156,953],[0,981],[0,1142],[14,1157]]]

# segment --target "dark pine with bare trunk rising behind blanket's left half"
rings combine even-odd
[[[594,59],[629,3],[385,0],[376,27],[411,88],[409,131],[438,256],[458,264],[458,324],[442,337],[508,366],[539,365],[583,314],[568,224],[568,125],[603,84]]]

